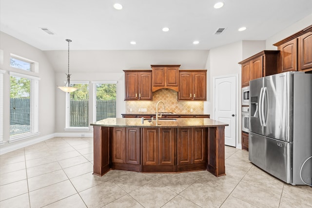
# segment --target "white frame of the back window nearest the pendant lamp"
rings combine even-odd
[[[64,82],[66,83],[66,82]],[[90,82],[89,81],[71,81],[71,86],[74,84],[88,84],[89,85],[89,100],[88,100],[88,107],[90,106]],[[90,109],[90,108],[89,108]],[[88,112],[89,113],[89,112]],[[88,116],[89,120],[90,116]],[[70,126],[70,92],[66,93],[66,102],[65,102],[65,128],[66,131],[86,131],[91,128],[90,122],[88,122],[88,126]]]

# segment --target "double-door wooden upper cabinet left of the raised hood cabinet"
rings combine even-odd
[[[153,100],[152,71],[124,70],[125,101]]]

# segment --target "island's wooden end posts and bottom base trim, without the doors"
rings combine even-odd
[[[198,164],[185,165],[143,165],[112,163],[110,161],[110,128],[107,126],[94,127],[94,174],[104,175],[110,169],[121,169],[136,172],[185,172],[207,170],[216,177],[225,175],[224,154],[224,126],[208,127],[207,138],[207,161]],[[143,156],[143,154],[141,154]],[[142,160],[142,159],[141,159]]]

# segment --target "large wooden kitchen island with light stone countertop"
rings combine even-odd
[[[93,173],[208,170],[225,175],[224,127],[208,118],[108,118],[94,129]]]

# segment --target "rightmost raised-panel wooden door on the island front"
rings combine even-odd
[[[206,163],[207,128],[193,128],[192,131],[192,164]]]

